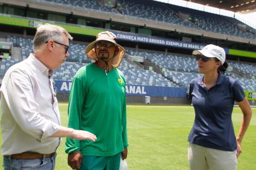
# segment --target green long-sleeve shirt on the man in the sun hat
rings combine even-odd
[[[126,93],[123,73],[117,68],[105,70],[91,63],[75,74],[69,95],[68,127],[89,131],[97,136],[89,140],[66,139],[65,152],[82,155],[112,156],[128,146],[126,129]]]

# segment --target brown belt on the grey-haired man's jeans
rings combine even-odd
[[[52,157],[55,155],[55,152],[51,154],[40,154],[37,152],[23,152],[20,154],[13,154],[13,155],[5,155],[5,157],[10,157],[11,159],[23,159],[23,160],[32,160],[32,159],[42,159],[43,155],[45,155],[45,158]]]

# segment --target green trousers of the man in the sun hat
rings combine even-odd
[[[119,170],[121,152],[113,156],[83,156],[80,170]]]

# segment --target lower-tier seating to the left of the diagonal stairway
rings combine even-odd
[[[22,50],[22,60],[26,59],[30,53],[32,53],[33,48],[33,40],[29,38],[22,38],[18,36],[7,36],[8,42],[13,42],[14,46],[21,47]],[[62,67],[56,69],[53,74],[53,78],[56,80],[63,80],[63,81],[72,81],[75,73],[77,70],[87,65],[88,63],[93,62],[89,60],[85,56],[85,45],[82,44],[73,44],[70,43],[70,56],[66,59]],[[4,76],[4,73],[7,69],[12,66],[13,64],[20,62],[21,60],[17,59],[8,59],[8,62],[3,60],[0,73],[1,77]],[[5,65],[6,63],[6,65]],[[125,77],[128,83],[134,85],[150,85],[150,86],[166,86],[166,87],[177,87],[176,84],[170,82],[166,78],[162,77],[161,74],[157,74],[154,71],[148,70],[139,70],[135,69],[132,64],[128,63],[125,58],[121,62],[119,67],[123,72],[125,72]]]

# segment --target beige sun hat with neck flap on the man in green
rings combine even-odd
[[[91,42],[86,48],[85,48],[85,55],[92,60],[96,60],[97,56],[96,56],[96,52],[95,52],[95,43],[98,41],[109,41],[112,42],[113,44],[115,44],[118,49],[119,52],[113,57],[113,62],[112,62],[112,66],[113,67],[118,67],[120,65],[120,62],[123,59],[125,50],[123,48],[123,46],[120,46],[119,44],[117,44],[117,36],[115,34],[113,34],[110,31],[105,31],[105,32],[100,32],[97,36],[96,36],[96,41]]]

